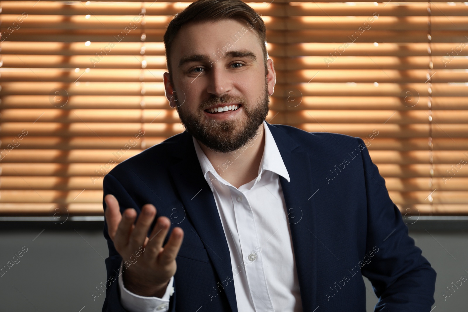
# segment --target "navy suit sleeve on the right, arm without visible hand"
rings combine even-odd
[[[390,198],[385,180],[373,164],[364,145],[361,157],[364,165],[367,200],[366,251],[371,262],[364,265],[362,275],[372,283],[379,303],[376,312],[430,312],[434,304],[436,272],[422,256],[408,235],[402,214]]]

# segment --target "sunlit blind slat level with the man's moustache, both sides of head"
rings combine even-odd
[[[368,109],[380,110],[427,110],[427,96],[413,94],[414,101],[405,100],[405,90],[402,96],[301,96],[300,91],[291,87],[285,97],[271,96],[271,109],[301,110],[301,109]],[[64,94],[65,96],[65,94]],[[164,95],[145,95],[142,104],[139,95],[70,95],[62,101],[63,110],[70,109],[170,109]],[[376,105],[378,103],[379,105]],[[423,105],[424,103],[424,105]],[[55,105],[54,105],[55,104]],[[52,105],[52,106],[51,106]],[[50,109],[59,107],[53,97],[48,95],[6,95],[2,97],[1,107],[4,109]],[[468,109],[468,101],[463,96],[431,97],[432,110]]]

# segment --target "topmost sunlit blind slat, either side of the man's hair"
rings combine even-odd
[[[358,5],[343,5],[342,3],[305,2],[294,1],[292,3],[281,3],[289,1],[275,1],[274,3],[247,2],[259,14],[269,16],[372,16],[378,11],[379,16],[427,16],[427,1],[417,3],[410,1],[405,6],[398,3],[389,2],[380,3],[375,6],[374,3],[359,3]],[[416,2],[416,3],[413,3]],[[434,1],[436,2],[436,1]],[[317,5],[319,3],[320,5]],[[139,15],[141,8],[146,8],[145,15],[175,15],[177,12],[187,7],[190,2],[164,3],[164,2],[141,2],[137,3],[116,3],[109,5],[107,3],[90,2],[88,5],[81,3],[66,2],[63,5],[60,2],[40,1],[35,4],[34,1],[4,1],[2,2],[3,14],[21,15],[28,12],[28,15],[88,15],[91,11],[94,15]],[[431,15],[433,16],[466,16],[468,7],[463,2],[457,5],[449,5],[446,2],[434,3]],[[437,9],[436,9],[437,8]]]

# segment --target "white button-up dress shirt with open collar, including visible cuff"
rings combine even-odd
[[[279,175],[289,182],[278,146],[263,121],[265,146],[257,176],[239,189],[212,166],[197,140],[193,144],[210,186],[231,255],[237,309],[240,312],[301,312],[291,232]],[[244,146],[243,149],[249,148]],[[244,150],[237,152],[238,155]],[[238,157],[238,156],[237,156]],[[235,158],[230,159],[235,162]],[[233,170],[226,162],[217,170]],[[162,298],[141,297],[125,289],[119,275],[121,303],[131,312],[168,311],[173,278]],[[213,290],[211,296],[217,296]]]

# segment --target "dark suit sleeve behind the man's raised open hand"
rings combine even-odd
[[[135,203],[133,198],[128,194],[127,190],[124,189],[122,184],[111,174],[106,174],[104,176],[104,180],[102,182],[102,189],[103,189],[103,198],[108,195],[112,194],[117,198],[120,207],[120,213],[123,213],[127,208],[134,208],[139,215],[141,209]],[[102,206],[104,208],[104,212],[106,210],[106,203],[104,199],[102,199]],[[138,218],[138,217],[137,217]],[[114,247],[114,243],[112,239],[110,239],[108,228],[107,228],[107,220],[105,220],[104,214],[104,229],[103,229],[104,237],[107,239],[107,246],[109,248],[109,257],[105,259],[106,270],[107,270],[107,281],[106,281],[106,298],[104,300],[104,304],[102,305],[102,312],[129,312],[124,308],[121,303],[121,295],[120,289],[118,284],[118,277],[121,272],[121,262],[122,256],[118,254],[117,250]],[[173,286],[176,286],[174,281]],[[169,310],[170,312],[175,311],[175,296],[170,296],[169,301]]]

